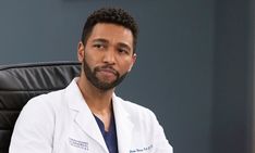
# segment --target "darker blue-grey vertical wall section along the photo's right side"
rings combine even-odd
[[[216,1],[212,153],[252,153],[254,9],[254,0]]]

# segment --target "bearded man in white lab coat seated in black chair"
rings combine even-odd
[[[24,106],[10,153],[172,153],[154,113],[114,94],[135,63],[136,39],[137,25],[122,9],[88,16],[77,47],[81,76]]]

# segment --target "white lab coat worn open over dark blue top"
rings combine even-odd
[[[119,153],[172,153],[148,109],[113,94]],[[65,89],[32,99],[17,118],[10,153],[108,153],[74,79]]]

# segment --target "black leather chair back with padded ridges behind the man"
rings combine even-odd
[[[38,94],[62,89],[80,73],[77,62],[0,66],[0,153],[8,153],[22,107]]]

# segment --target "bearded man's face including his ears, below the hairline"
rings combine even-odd
[[[118,86],[136,59],[131,30],[114,24],[96,24],[86,46],[80,42],[78,50],[83,50],[78,59],[87,80],[104,91]]]

